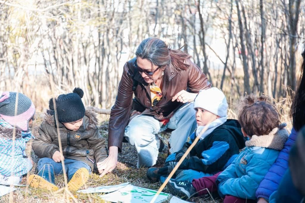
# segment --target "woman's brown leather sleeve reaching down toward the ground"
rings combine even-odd
[[[130,116],[133,95],[133,81],[128,74],[127,63],[124,65],[122,78],[118,87],[117,99],[111,108],[109,119],[108,147],[116,146],[119,148],[119,151],[122,149],[125,127]]]

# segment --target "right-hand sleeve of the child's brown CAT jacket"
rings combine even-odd
[[[90,149],[94,150],[94,159],[96,162],[101,162],[107,158],[107,150],[105,146],[105,139],[99,133],[97,127],[91,130],[91,137],[87,139]]]

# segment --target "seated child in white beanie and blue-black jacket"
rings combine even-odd
[[[190,142],[183,148],[167,157],[163,168],[150,168],[147,177],[152,181],[160,179],[164,182],[182,155],[195,140],[201,136],[188,157],[179,166],[170,184],[191,185],[194,178],[212,176],[224,170],[239,154],[239,149],[245,147],[241,126],[237,120],[227,119],[227,100],[221,90],[212,87],[199,92],[194,101],[197,129],[191,135]],[[208,129],[202,130],[209,123]]]

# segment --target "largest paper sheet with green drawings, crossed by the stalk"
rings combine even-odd
[[[100,197],[105,201],[111,202],[130,202],[130,203],[143,203],[150,202],[157,191],[146,189],[143,187],[136,187],[127,185],[115,192],[101,195]],[[170,194],[160,193],[155,202],[162,202],[166,200]]]

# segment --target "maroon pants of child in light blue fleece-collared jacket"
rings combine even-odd
[[[208,191],[210,192],[210,194],[217,191],[216,179],[220,173],[221,172],[216,173],[213,176],[194,179],[192,181],[192,185],[196,189],[196,192],[198,192],[197,193],[198,196],[208,194]],[[252,202],[256,202],[256,201],[250,200],[250,199],[246,200],[246,199],[234,197],[231,195],[226,195],[224,197],[224,203],[246,203],[246,202],[252,203]]]

